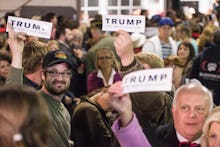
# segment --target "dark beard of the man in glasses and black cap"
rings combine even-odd
[[[55,83],[62,83],[64,84],[65,86],[62,86],[62,87],[55,87],[54,84]],[[64,92],[67,91],[67,89],[69,88],[69,85],[66,84],[66,81],[52,81],[51,83],[50,82],[45,82],[45,88],[47,89],[48,92],[50,92],[52,95],[61,95],[63,94]]]

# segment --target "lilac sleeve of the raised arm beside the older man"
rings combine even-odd
[[[120,120],[117,119],[112,125],[112,131],[121,147],[151,147],[135,114],[126,127],[122,128],[120,124]]]

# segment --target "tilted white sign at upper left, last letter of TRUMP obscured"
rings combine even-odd
[[[50,39],[52,31],[52,23],[9,16],[8,23],[12,25],[15,32],[24,32],[29,36],[36,36]],[[6,29],[8,32],[8,28]]]

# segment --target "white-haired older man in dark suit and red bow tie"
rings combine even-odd
[[[174,95],[173,124],[157,129],[158,146],[200,146],[205,118],[213,108],[211,92],[199,83],[181,86]]]

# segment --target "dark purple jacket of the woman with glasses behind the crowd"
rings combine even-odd
[[[116,72],[116,74],[114,74],[113,77],[113,83],[117,82],[117,81],[121,81],[121,75]],[[92,72],[88,75],[87,78],[87,90],[88,93],[92,92],[95,89],[99,89],[104,87],[104,82],[101,78],[97,77],[97,72]]]

